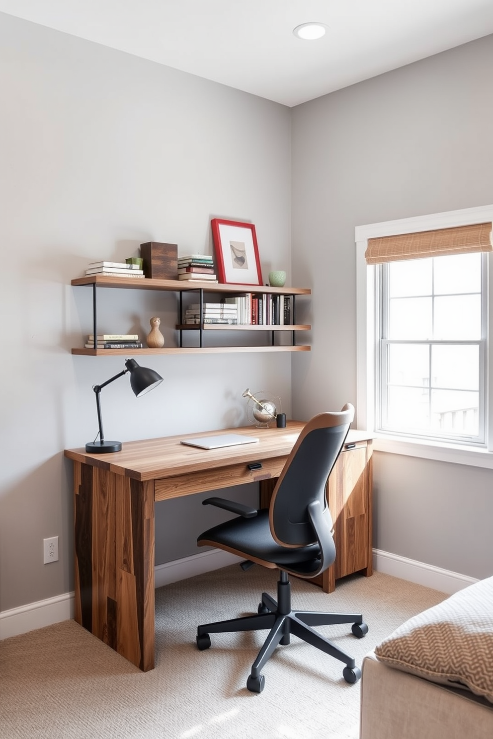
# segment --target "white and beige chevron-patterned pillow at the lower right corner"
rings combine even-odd
[[[493,577],[413,616],[375,648],[375,655],[399,670],[469,688],[493,703]]]

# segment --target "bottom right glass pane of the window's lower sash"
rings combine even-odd
[[[432,390],[432,429],[443,434],[479,432],[479,394]]]

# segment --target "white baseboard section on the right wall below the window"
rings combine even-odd
[[[442,593],[448,595],[457,593],[467,585],[477,582],[475,577],[442,570],[440,567],[426,565],[424,562],[416,562],[415,559],[407,559],[405,556],[390,554],[380,549],[373,550],[373,569],[386,575],[400,577],[402,580],[415,582],[416,585],[441,590]]]

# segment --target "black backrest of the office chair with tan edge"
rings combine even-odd
[[[340,412],[313,416],[300,433],[271,498],[271,534],[278,544],[299,548],[317,542],[308,512],[313,501],[319,501],[331,531],[325,488],[353,418],[354,407],[347,403]]]

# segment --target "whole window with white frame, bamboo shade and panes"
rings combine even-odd
[[[356,228],[356,424],[376,450],[493,468],[492,219],[487,205]]]

